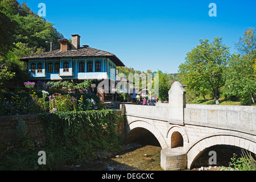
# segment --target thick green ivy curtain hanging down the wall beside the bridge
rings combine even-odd
[[[46,126],[49,146],[61,151],[60,155],[69,164],[92,158],[98,151],[120,150],[118,118],[114,110],[39,114]]]

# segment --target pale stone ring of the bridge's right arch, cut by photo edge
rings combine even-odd
[[[233,133],[210,134],[196,140],[196,142],[187,148],[188,169],[193,166],[195,160],[206,148],[216,146],[218,144],[244,148],[256,154],[256,142],[253,138]]]

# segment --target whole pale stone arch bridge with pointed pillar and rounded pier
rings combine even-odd
[[[135,135],[143,135],[138,129],[150,131],[162,147],[163,169],[190,169],[206,148],[218,144],[256,154],[256,107],[186,104],[180,82],[168,93],[169,104],[121,105],[127,115],[126,136],[136,129]]]

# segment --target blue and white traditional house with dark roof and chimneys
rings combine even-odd
[[[116,81],[116,69],[125,66],[113,53],[80,47],[80,36],[59,39],[60,49],[22,57],[26,61],[30,80],[87,80],[94,86],[104,79]]]

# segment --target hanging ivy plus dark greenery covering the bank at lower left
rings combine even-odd
[[[57,170],[93,159],[99,151],[121,150],[116,125],[123,118],[114,110],[43,113],[39,118],[46,127],[48,142],[43,147],[31,145],[26,124],[20,121],[16,136],[23,145],[0,156],[0,170]],[[39,151],[46,152],[46,165],[38,164]]]

